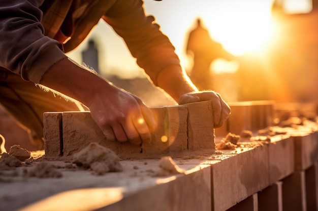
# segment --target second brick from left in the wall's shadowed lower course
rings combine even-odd
[[[282,211],[282,182],[276,182],[258,192],[259,211]]]

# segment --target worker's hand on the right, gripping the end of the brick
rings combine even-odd
[[[182,95],[178,103],[196,103],[200,101],[212,102],[214,127],[219,128],[228,119],[231,109],[221,96],[213,91],[191,92]]]

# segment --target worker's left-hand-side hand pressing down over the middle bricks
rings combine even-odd
[[[107,140],[149,142],[156,126],[152,111],[136,96],[112,87],[94,98],[89,110]]]

